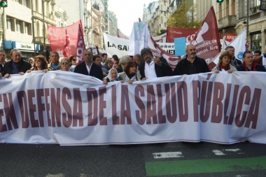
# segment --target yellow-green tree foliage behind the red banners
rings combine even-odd
[[[202,21],[194,20],[196,8],[197,4],[184,1],[181,6],[176,8],[176,11],[168,18],[167,26],[186,29],[200,27]]]

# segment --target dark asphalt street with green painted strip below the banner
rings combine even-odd
[[[0,144],[1,176],[266,176],[266,145]]]

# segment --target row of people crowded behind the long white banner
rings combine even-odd
[[[196,47],[193,44],[186,45],[186,57],[183,57],[176,65],[174,71],[164,57],[154,55],[149,48],[143,48],[140,54],[132,57],[125,55],[118,59],[117,55],[108,58],[106,53],[102,56],[92,55],[92,51],[85,49],[83,62],[76,65],[76,57],[70,56],[59,59],[58,52],[50,52],[49,61],[43,55],[37,55],[25,61],[21,58],[18,49],[10,50],[11,60],[7,62],[6,52],[0,50],[0,78],[8,78],[11,74],[24,75],[31,71],[69,71],[93,76],[103,80],[104,84],[113,81],[133,83],[134,81],[160,78],[165,76],[182,76],[195,73],[207,73],[209,67],[205,59],[197,57]],[[265,72],[265,53],[260,50],[251,52],[246,50],[243,54],[243,62],[235,58],[235,48],[228,46],[219,57],[218,64],[212,69],[215,73],[227,71],[263,71]]]

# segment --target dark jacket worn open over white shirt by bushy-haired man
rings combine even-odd
[[[162,64],[161,66],[159,66],[158,64],[155,64],[154,69],[155,69],[156,76],[158,78],[164,77],[164,76],[173,76],[172,68],[167,63],[167,60],[164,57],[160,57],[159,59],[162,62]],[[141,79],[146,78],[145,64],[146,62],[141,62],[141,64],[139,65],[139,72],[141,73]]]

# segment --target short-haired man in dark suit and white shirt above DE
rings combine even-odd
[[[83,59],[84,61],[76,66],[74,73],[81,73],[102,80],[104,78],[102,68],[92,62],[92,51],[85,49]]]

